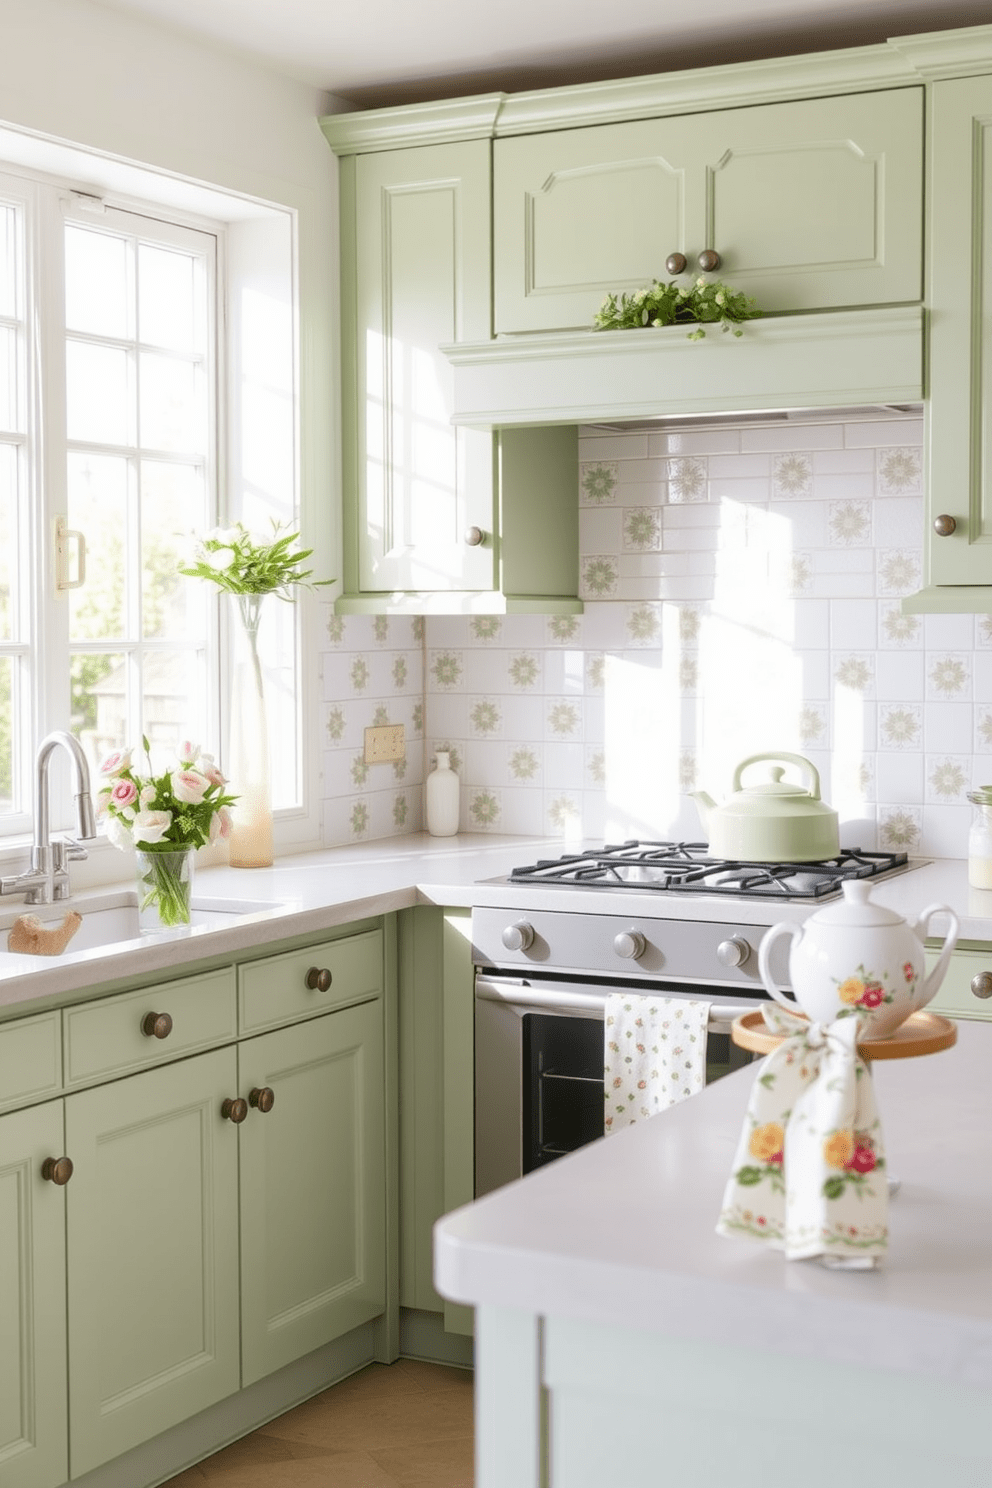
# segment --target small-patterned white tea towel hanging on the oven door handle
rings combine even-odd
[[[604,1028],[604,1129],[668,1110],[706,1083],[709,1003],[610,992]]]

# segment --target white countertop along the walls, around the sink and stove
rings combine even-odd
[[[589,844],[592,847],[599,844]],[[178,939],[149,943],[128,940],[113,948],[73,951],[59,957],[10,955],[0,951],[0,1016],[30,1012],[104,982],[146,973],[180,970],[183,964],[214,955],[232,955],[297,934],[406,909],[412,905],[608,912],[628,918],[726,920],[770,926],[779,920],[803,920],[817,909],[814,902],[776,903],[739,900],[714,894],[656,894],[650,891],[608,893],[501,884],[512,868],[580,851],[582,845],[549,838],[461,833],[431,838],[427,833],[385,838],[354,847],[332,848],[277,859],[272,868],[198,869],[195,900],[238,903],[248,900],[251,912],[223,915],[211,926],[196,926]],[[495,879],[495,882],[494,882]],[[132,882],[116,885],[120,894]],[[101,888],[59,905],[31,908],[16,899],[0,900],[3,923],[33,912],[55,924],[70,908],[83,915],[112,894]],[[949,905],[961,920],[961,940],[992,942],[992,891],[968,887],[964,860],[913,863],[912,869],[879,882],[873,897],[898,914],[915,918],[933,903]],[[930,933],[944,933],[944,917],[935,915]],[[0,930],[0,945],[4,942]]]

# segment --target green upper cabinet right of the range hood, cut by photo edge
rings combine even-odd
[[[992,77],[933,86],[924,589],[907,612],[992,613]]]

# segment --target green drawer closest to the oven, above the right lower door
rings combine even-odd
[[[253,961],[239,969],[239,976],[241,1033],[312,1018],[382,991],[382,931],[370,930]],[[308,978],[314,987],[308,985]]]

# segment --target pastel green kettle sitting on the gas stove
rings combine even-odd
[[[745,769],[772,762],[764,778],[744,786]],[[794,765],[805,780],[784,780]],[[692,793],[711,857],[748,863],[821,863],[837,857],[837,812],[819,799],[819,775],[802,754],[750,754],[733,772],[732,793],[717,802],[705,790]]]

